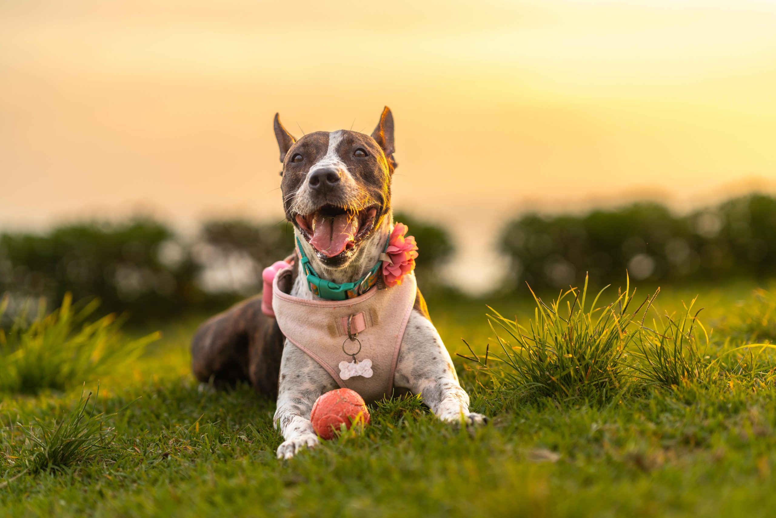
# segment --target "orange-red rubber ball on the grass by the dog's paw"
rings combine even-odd
[[[349,388],[338,388],[317,398],[310,412],[313,429],[321,439],[331,439],[344,424],[350,429],[354,423],[369,424],[369,409],[364,398]]]

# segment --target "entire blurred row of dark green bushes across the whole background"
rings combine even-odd
[[[449,232],[396,214],[417,238],[421,290],[448,288]],[[511,260],[504,288],[568,287],[590,273],[597,285],[633,280],[722,280],[776,276],[776,199],[752,195],[691,214],[657,203],[552,217],[527,214],[506,225],[501,252]],[[66,292],[99,297],[103,311],[129,311],[133,321],[186,311],[218,311],[262,289],[262,269],[293,251],[290,224],[209,221],[183,238],[151,218],[67,224],[42,234],[0,234],[0,294],[12,301]],[[449,293],[445,291],[445,293]],[[450,292],[452,293],[452,292]]]

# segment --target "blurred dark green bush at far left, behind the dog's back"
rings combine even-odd
[[[203,301],[196,265],[164,224],[68,224],[47,234],[0,235],[0,293],[15,300],[99,297],[106,312],[164,317]]]

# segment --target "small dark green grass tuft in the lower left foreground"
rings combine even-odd
[[[99,395],[99,388],[98,388]],[[0,487],[8,485],[10,481],[21,475],[36,475],[42,471],[61,471],[68,466],[78,464],[95,457],[97,454],[119,450],[110,441],[113,429],[106,426],[106,421],[117,415],[129,406],[125,405],[118,412],[112,414],[95,414],[97,395],[92,402],[92,408],[88,408],[92,392],[81,397],[78,404],[70,412],[65,412],[62,419],[57,419],[51,424],[36,419],[33,425],[18,423],[15,427],[23,433],[24,446],[14,457],[19,457],[17,466],[24,466],[23,471],[2,482]],[[131,403],[130,403],[131,405]]]

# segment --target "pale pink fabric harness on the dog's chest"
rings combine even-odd
[[[405,275],[397,286],[383,290],[375,286],[345,301],[308,301],[278,287],[280,277],[291,275],[293,267],[280,270],[272,283],[272,310],[283,335],[320,363],[341,388],[351,388],[366,402],[390,397],[401,340],[417,294],[414,273]],[[355,369],[351,372],[361,375],[343,380],[340,364],[354,359],[358,363],[349,366]],[[366,360],[371,360],[371,366]],[[369,367],[372,376],[365,377]]]

